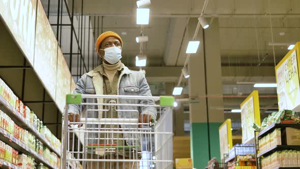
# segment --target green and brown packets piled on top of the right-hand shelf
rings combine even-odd
[[[259,127],[257,124],[253,124],[253,128],[256,131],[262,131],[267,126],[276,123],[300,123],[299,112],[294,112],[292,110],[273,112],[267,118],[263,119],[261,127]]]

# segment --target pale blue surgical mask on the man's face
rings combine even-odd
[[[105,48],[104,52],[104,59],[110,64],[116,64],[122,58],[122,49],[116,46]]]

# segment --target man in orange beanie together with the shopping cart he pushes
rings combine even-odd
[[[157,110],[161,121],[170,120],[171,108],[162,106],[172,106],[174,98],[152,97],[144,74],[120,61],[122,46],[116,33],[101,34],[96,49],[103,63],[82,75],[73,95],[67,96],[62,168],[79,163],[83,168],[157,168],[159,163],[172,167],[172,158],[166,160],[172,150],[163,148],[172,143],[172,127],[157,125],[161,131],[155,131],[152,126]],[[159,147],[161,154],[155,156]]]

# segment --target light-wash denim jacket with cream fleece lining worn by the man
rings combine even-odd
[[[146,81],[145,75],[141,72],[129,70],[124,64],[122,64],[123,71],[119,76],[117,88],[117,95],[133,95],[133,96],[152,96]],[[97,94],[103,95],[103,65],[98,66],[94,70],[85,73],[81,76],[76,84],[76,89],[73,91],[74,94]],[[82,103],[102,103],[103,99],[82,99]],[[118,103],[121,104],[155,104],[153,100],[133,100],[133,99],[118,99]],[[68,113],[74,113],[81,115],[82,110],[86,107],[71,104],[67,110]],[[97,108],[88,106],[88,109],[103,109],[102,105],[98,105]],[[134,112],[122,111],[122,110],[138,110],[139,114],[149,114],[155,120],[157,116],[156,107],[153,106],[117,106],[118,118],[130,118],[137,119],[138,115]],[[94,114],[86,114],[87,118],[102,118],[103,112],[98,111]],[[96,126],[95,126],[96,127]],[[132,125],[121,125],[122,128],[133,128]],[[92,135],[91,135],[92,136]],[[97,137],[97,133],[92,137]],[[132,138],[132,134],[124,133],[124,138]],[[133,145],[130,143],[131,139],[126,140],[127,145]]]

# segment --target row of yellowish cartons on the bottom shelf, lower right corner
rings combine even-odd
[[[300,151],[277,151],[261,159],[262,168],[300,167]]]

